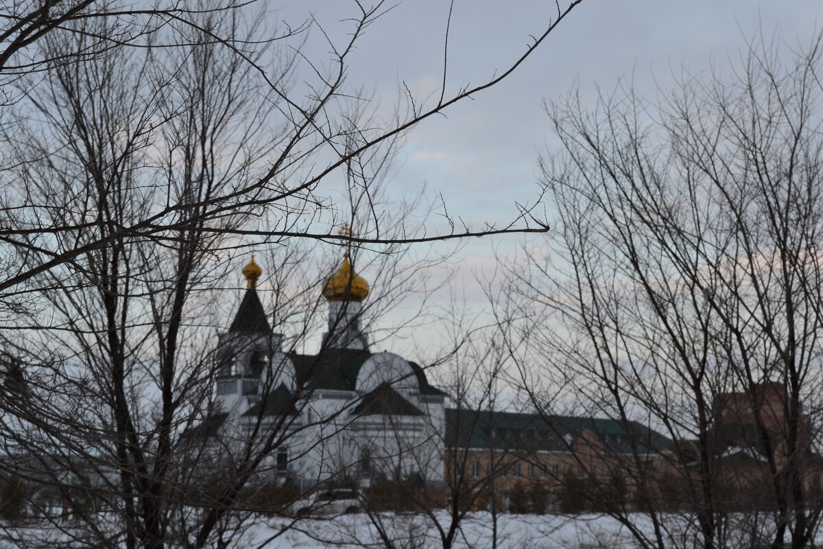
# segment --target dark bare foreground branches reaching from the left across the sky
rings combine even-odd
[[[276,153],[267,155],[267,162],[249,165],[249,172],[244,174],[242,183],[235,182],[224,188],[215,189],[212,196],[203,197],[195,202],[199,209],[198,215],[202,218],[198,232],[208,235],[253,235],[258,240],[272,243],[280,242],[287,237],[300,237],[390,244],[398,240],[416,242],[523,230],[545,231],[546,225],[540,223],[535,226],[534,219],[536,218],[529,215],[533,205],[524,207],[514,220],[499,223],[490,221],[485,228],[480,230],[464,227],[464,231],[453,230],[449,234],[404,234],[400,238],[397,236],[386,238],[384,227],[374,226],[364,231],[363,234],[349,235],[343,239],[328,231],[328,222],[324,223],[323,230],[316,230],[312,223],[319,221],[319,212],[329,213],[333,210],[330,210],[328,205],[334,201],[329,196],[328,190],[321,185],[321,182],[327,179],[332,172],[345,166],[351,169],[354,165],[352,161],[355,159],[371,161],[370,157],[375,154],[375,151],[379,151],[380,147],[388,146],[407,129],[508,77],[546,40],[551,30],[554,30],[560,21],[579,5],[580,1],[570,2],[565,9],[559,7],[555,19],[547,24],[542,34],[537,35],[523,55],[515,58],[508,67],[499,67],[495,71],[495,76],[488,81],[478,86],[460,87],[456,93],[449,95],[446,93],[446,80],[444,79],[439,98],[429,103],[407,95],[406,108],[398,109],[395,118],[388,126],[371,123],[370,117],[364,112],[363,105],[365,105],[366,98],[358,95],[357,89],[346,83],[346,67],[351,52],[354,51],[365,29],[377,23],[380,16],[387,11],[388,7],[384,6],[383,2],[377,2],[374,6],[355,2],[353,9],[356,13],[349,20],[352,27],[351,33],[341,44],[331,41],[328,44],[332,54],[332,63],[328,69],[323,69],[312,59],[300,56],[300,50],[297,49],[295,52],[295,49],[291,49],[291,44],[283,44],[280,49],[275,48],[277,55],[260,58],[258,49],[246,48],[245,44],[271,43],[281,35],[273,37],[264,35],[258,38],[258,35],[252,34],[249,38],[241,40],[240,44],[236,44],[236,35],[228,32],[227,35],[230,38],[225,38],[221,35],[223,29],[216,24],[217,20],[226,21],[235,19],[235,17],[226,17],[223,12],[215,15],[207,7],[201,7],[199,12],[193,10],[192,13],[197,17],[193,15],[188,26],[184,29],[166,30],[166,33],[173,37],[182,37],[178,43],[195,44],[197,47],[197,44],[205,42],[212,46],[220,46],[226,49],[230,56],[247,63],[249,71],[255,72],[253,78],[255,85],[265,87],[266,91],[263,94],[272,100],[267,112],[267,115],[272,116],[272,120],[267,123],[278,128],[276,133],[272,133],[272,139],[277,144]],[[199,4],[198,7],[200,7]],[[97,40],[101,31],[84,29],[82,25],[85,22],[86,17],[80,17],[79,21],[67,22],[66,24],[71,26],[75,32],[69,33],[68,40],[58,40],[58,42],[60,44],[71,43],[72,37],[77,36],[80,45],[76,44],[68,49],[77,51],[82,49],[84,47],[82,44],[87,44],[89,40]],[[95,25],[109,30],[119,29],[118,22],[116,17],[114,19],[104,17],[100,21],[95,19]],[[286,27],[284,34],[291,36],[293,31],[291,27]],[[160,38],[157,38],[157,33],[151,32],[137,40],[143,40],[140,44],[151,49],[151,45],[156,43],[152,40],[160,40]],[[279,46],[280,43],[277,44]],[[252,53],[247,50],[251,50]],[[49,49],[49,51],[57,51],[57,49]],[[65,51],[65,49],[60,51]],[[158,57],[160,56],[152,54],[152,61]],[[448,58],[448,49],[444,51],[444,58]],[[290,88],[291,79],[288,77],[288,69],[294,63],[299,62],[304,64],[304,68],[313,72],[313,77],[307,84],[309,86],[307,96],[301,95],[301,92],[292,92]],[[162,63],[159,64],[162,65]],[[448,64],[444,61],[444,68],[447,66]],[[152,64],[152,67],[158,67],[158,63]],[[174,65],[169,68],[173,67]],[[164,69],[160,69],[160,72],[165,75],[167,81],[174,81],[174,72],[164,71]],[[444,75],[448,76],[448,73],[444,71]],[[252,77],[249,73],[246,80],[237,85],[249,86],[250,81]],[[158,92],[164,91],[165,88]],[[355,105],[353,109],[352,104]],[[156,126],[151,128],[156,128]],[[12,165],[16,165],[16,161],[13,161]],[[364,193],[356,192],[356,194]],[[368,196],[368,193],[365,193],[365,196]],[[307,209],[302,207],[304,205],[311,207]],[[12,249],[27,249],[40,254],[40,260],[35,265],[11,269],[6,280],[0,282],[0,289],[7,292],[9,299],[25,291],[26,284],[30,284],[32,278],[40,273],[76,261],[83,254],[105,247],[116,238],[127,236],[155,240],[169,238],[169,235],[174,235],[181,230],[182,221],[179,215],[181,208],[184,208],[183,204],[172,200],[158,202],[153,207],[146,208],[139,218],[130,220],[128,226],[123,226],[116,235],[103,235],[92,240],[76,242],[72,238],[62,237],[86,229],[91,223],[90,220],[75,216],[70,222],[64,222],[62,225],[34,221],[48,219],[49,209],[58,206],[52,202],[34,202],[25,195],[19,195],[14,196],[13,200],[2,207],[3,228],[0,237],[3,241]],[[371,204],[371,206],[375,205]],[[232,227],[221,224],[224,216],[238,211],[264,219],[267,225],[261,228],[249,225]],[[375,209],[372,216],[374,221],[379,221],[382,213]],[[334,215],[335,213],[332,213],[332,217]],[[56,240],[56,243],[53,243],[52,239]],[[32,240],[36,244],[32,244]]]

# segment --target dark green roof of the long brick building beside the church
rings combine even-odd
[[[541,416],[535,413],[446,410],[446,445],[472,449],[568,451],[584,430],[591,430],[604,449],[615,453],[659,452],[665,436],[637,421],[586,416]]]

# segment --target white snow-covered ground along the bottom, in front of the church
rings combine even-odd
[[[98,526],[105,527],[105,515]],[[241,531],[235,532],[230,547],[244,549],[441,549],[438,524],[448,528],[444,511],[435,517],[424,514],[344,514],[326,519],[249,517]],[[693,549],[700,536],[695,523],[682,515],[658,515],[658,533],[665,547]],[[633,528],[652,541],[653,528],[648,515],[630,517]],[[379,523],[380,528],[377,524]],[[105,529],[105,528],[104,528]],[[751,549],[767,547],[774,523],[767,514],[739,514],[728,517],[723,525],[723,539],[717,547]],[[759,534],[758,534],[759,532]],[[71,522],[35,523],[2,528],[0,549],[30,547],[96,547],[85,536],[88,531]],[[5,539],[3,539],[5,538]],[[13,540],[13,541],[7,541]],[[384,540],[388,540],[385,542]],[[788,539],[787,539],[788,541]],[[389,543],[390,542],[390,543]],[[814,546],[821,547],[818,532]],[[35,547],[31,545],[31,547]],[[652,541],[649,545],[654,546]],[[813,547],[814,547],[813,546]],[[176,547],[176,546],[175,546]],[[545,514],[499,514],[495,519],[487,512],[469,515],[453,543],[454,549],[635,549],[642,547],[629,528],[616,519],[588,514],[565,517]]]

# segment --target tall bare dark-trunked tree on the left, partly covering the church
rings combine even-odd
[[[426,262],[398,262],[407,244],[545,231],[529,225],[524,208],[502,225],[430,235],[404,218],[424,203],[388,209],[380,192],[403,132],[507,77],[578,4],[559,9],[497,76],[453,95],[444,80],[439,100],[409,96],[388,125],[376,123],[367,98],[346,83],[351,51],[388,8],[382,2],[353,4],[351,34],[341,44],[329,39],[330,69],[305,58],[299,42],[278,41],[300,40],[316,22],[263,29],[254,4],[15,7],[0,67],[15,91],[0,172],[0,467],[44,528],[37,536],[9,528],[7,541],[232,547],[247,541],[261,512],[286,514],[298,494],[281,473],[357,419],[347,408],[314,410],[322,379],[301,375],[323,367],[301,351],[322,323],[318,287],[333,271],[329,258],[326,268],[311,268],[314,244],[346,244],[341,268],[362,270],[368,260],[383,277],[357,314],[345,300],[330,315],[322,355],[345,347],[339,340],[357,323],[404,292],[425,294],[416,273]],[[26,55],[30,63],[15,61]],[[308,95],[292,87],[301,66],[312,71],[303,75]],[[341,170],[337,200],[328,181]],[[329,229],[341,221],[351,232]],[[276,307],[262,322],[264,336],[221,339],[236,356],[250,356],[262,396],[228,421],[214,388],[219,393],[221,376],[242,384],[243,375],[215,345],[230,319],[216,304],[250,241],[269,276],[259,295],[271,285]],[[304,370],[286,367],[299,358]],[[318,440],[280,463],[280,450],[314,427],[323,428]],[[288,518],[281,531],[293,525]]]

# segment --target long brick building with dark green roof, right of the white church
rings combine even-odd
[[[638,491],[638,469],[659,468],[672,444],[637,421],[465,409],[446,410],[445,441],[448,482],[463,475],[488,492],[478,506],[523,511],[578,510],[594,490],[622,505]]]

